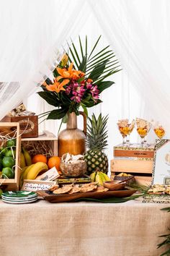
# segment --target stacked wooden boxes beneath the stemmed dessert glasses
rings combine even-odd
[[[120,173],[135,176],[140,184],[151,184],[153,172],[154,145],[139,148],[138,145],[114,147],[111,160],[111,178]]]

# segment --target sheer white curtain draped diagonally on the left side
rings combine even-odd
[[[79,34],[86,8],[84,0],[0,1],[0,119],[51,73],[63,43]]]

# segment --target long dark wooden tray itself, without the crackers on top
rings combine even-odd
[[[64,194],[64,195],[54,195],[53,192],[37,191],[37,194],[42,196],[48,202],[73,202],[79,198],[94,198],[94,199],[104,199],[109,197],[130,197],[136,192],[134,189],[129,190],[117,190],[117,191],[107,191],[107,192],[85,192],[76,194]]]

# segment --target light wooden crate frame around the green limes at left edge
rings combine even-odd
[[[2,145],[5,140],[3,135],[15,137],[16,143],[16,158],[15,158],[15,176],[14,179],[0,179],[0,184],[5,190],[18,190],[19,189],[19,173],[20,173],[20,150],[21,150],[21,136],[19,131],[19,123],[17,122],[1,122],[0,123],[0,144]]]

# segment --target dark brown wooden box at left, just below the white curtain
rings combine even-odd
[[[1,121],[19,122],[22,137],[38,137],[37,116],[4,116]]]

